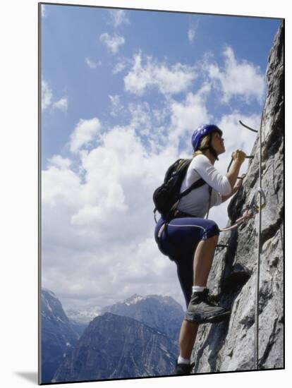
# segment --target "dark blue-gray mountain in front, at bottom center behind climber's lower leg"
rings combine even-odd
[[[90,322],[52,382],[170,375],[177,351],[176,342],[157,329],[104,313]]]

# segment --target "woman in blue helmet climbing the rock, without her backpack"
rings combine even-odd
[[[174,375],[188,375],[198,325],[224,320],[229,311],[215,305],[207,289],[207,279],[217,245],[219,228],[205,219],[212,206],[220,205],[241,186],[237,179],[245,153],[236,150],[226,176],[214,168],[218,155],[225,152],[222,131],[209,124],[198,128],[192,136],[193,159],[181,185],[181,193],[202,178],[205,185],[190,191],[178,202],[174,217],[168,222],[161,217],[155,228],[159,250],[176,262],[178,279],[187,311],[179,337],[180,355]]]

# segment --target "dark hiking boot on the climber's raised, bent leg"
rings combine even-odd
[[[185,313],[185,320],[196,323],[214,323],[226,319],[230,311],[219,307],[209,296],[209,290],[194,292]]]

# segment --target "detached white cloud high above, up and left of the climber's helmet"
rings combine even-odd
[[[124,78],[128,92],[143,95],[147,88],[157,87],[164,95],[174,95],[190,87],[196,78],[194,69],[181,63],[168,67],[164,63],[155,63],[151,56],[147,56],[142,64],[142,54],[134,56],[133,68]]]

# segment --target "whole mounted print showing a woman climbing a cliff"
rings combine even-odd
[[[39,3],[39,384],[283,368],[284,19]]]

